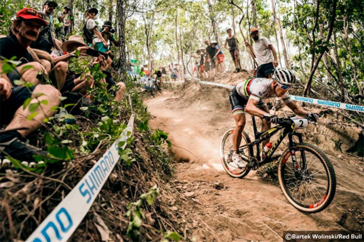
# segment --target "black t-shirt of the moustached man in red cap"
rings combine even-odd
[[[21,64],[33,61],[33,57],[29,54],[27,49],[20,45],[15,35],[0,39],[0,56],[7,59],[16,56],[15,61],[21,61]]]

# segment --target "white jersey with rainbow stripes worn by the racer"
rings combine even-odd
[[[272,81],[272,79],[250,77],[236,85],[236,91],[244,99],[252,98],[259,102],[265,98],[275,97],[275,95],[270,94],[270,84]],[[281,98],[285,104],[292,101],[288,92]]]

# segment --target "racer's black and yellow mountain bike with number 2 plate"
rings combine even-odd
[[[254,141],[246,132],[242,132],[239,153],[247,167],[240,169],[232,161],[233,133],[235,128],[229,128],[223,134],[220,143],[220,158],[225,171],[232,177],[242,178],[251,169],[257,170],[264,164],[273,161],[271,158],[282,140],[288,136],[288,148],[279,159],[278,179],[282,192],[288,202],[301,212],[315,213],[324,210],[332,202],[336,191],[335,171],[328,157],[312,144],[304,143],[302,134],[296,129],[307,128],[306,118],[280,118],[278,125],[263,132],[257,131],[255,117],[253,118]],[[260,144],[266,138],[282,130],[273,144],[272,149],[262,159]],[[294,139],[298,137],[298,143]],[[256,154],[254,155],[254,146]]]

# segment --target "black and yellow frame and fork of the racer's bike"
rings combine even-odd
[[[270,162],[273,161],[271,159],[273,153],[277,150],[278,146],[282,143],[283,139],[288,135],[288,140],[289,140],[288,148],[289,148],[289,151],[290,151],[290,155],[292,156],[294,173],[295,173],[297,178],[301,177],[301,173],[298,171],[298,164],[297,164],[296,154],[295,154],[295,150],[294,150],[293,136],[297,136],[299,142],[301,143],[301,142],[303,142],[302,134],[297,133],[296,131],[294,131],[293,125],[290,126],[290,127],[283,127],[281,125],[277,125],[277,126],[274,126],[273,128],[264,130],[263,132],[258,132],[254,116],[252,116],[252,120],[253,120],[253,129],[254,129],[254,139],[255,140],[253,142],[250,142],[249,144],[243,145],[243,146],[241,146],[239,148],[246,147],[246,146],[254,147],[254,145],[256,145],[257,154],[254,157],[258,161],[257,162],[257,168],[258,168],[258,167],[261,167],[264,164],[267,164],[267,163],[270,163]],[[278,136],[276,142],[273,144],[272,149],[270,149],[270,151],[268,152],[266,157],[263,160],[261,160],[261,157],[260,157],[260,143],[262,143],[267,138],[272,137],[275,133],[277,133],[281,129],[283,129],[283,131]],[[302,161],[303,161],[303,164],[304,164],[303,168],[304,168],[304,170],[306,170],[305,169],[306,168],[305,167],[306,166],[306,159],[305,159],[304,153],[301,155],[301,157],[302,157]],[[244,159],[247,162],[250,162],[250,160],[245,159],[244,157],[242,157],[242,159]]]

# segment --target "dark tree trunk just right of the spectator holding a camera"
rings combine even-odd
[[[123,0],[117,0],[116,7],[118,9],[118,32],[119,32],[119,74],[122,79],[125,78],[126,73],[126,55],[125,55],[125,21],[126,11]]]

